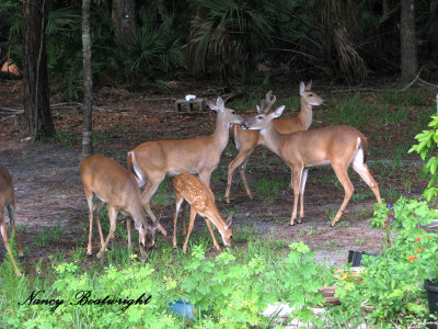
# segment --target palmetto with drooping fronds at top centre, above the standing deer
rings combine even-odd
[[[274,22],[267,1],[196,0],[187,47],[194,75],[219,73],[233,78],[254,69],[273,44]]]

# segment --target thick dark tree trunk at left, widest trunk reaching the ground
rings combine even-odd
[[[45,0],[23,0],[24,44],[24,116],[26,131],[35,139],[54,136],[51,121],[47,55]]]

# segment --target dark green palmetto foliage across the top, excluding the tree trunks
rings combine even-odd
[[[134,0],[132,0],[134,1]],[[135,1],[136,32],[123,45],[114,8],[93,1],[95,84],[148,83],[180,73],[230,83],[268,80],[273,71],[361,80],[400,67],[399,1],[196,0]],[[438,70],[436,0],[416,1],[418,54]],[[80,1],[46,1],[51,86],[78,97],[81,83]],[[22,63],[21,2],[0,3],[0,64]]]

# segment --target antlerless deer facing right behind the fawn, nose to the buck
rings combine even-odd
[[[185,140],[147,141],[128,152],[128,169],[137,177],[138,184],[143,186],[142,201],[149,216],[155,220],[149,201],[166,174],[182,172],[199,174],[210,185],[211,172],[218,167],[220,156],[227,147],[231,124],[241,124],[244,117],[234,110],[224,107],[221,98],[209,107],[218,112],[216,128],[212,135]]]

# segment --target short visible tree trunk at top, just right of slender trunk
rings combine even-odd
[[[114,0],[113,10],[116,16],[117,42],[126,44],[137,30],[136,1]]]

